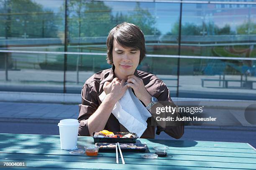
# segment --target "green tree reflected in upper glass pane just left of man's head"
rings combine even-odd
[[[111,8],[102,1],[71,1],[68,10],[69,37],[108,36],[113,26]]]

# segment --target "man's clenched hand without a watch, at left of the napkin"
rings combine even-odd
[[[124,85],[125,80],[118,80],[118,78],[114,78],[112,82],[105,82],[103,85],[103,90],[106,95],[110,96],[110,99],[114,102],[118,102],[121,97],[123,97],[125,91],[127,90],[128,86]]]

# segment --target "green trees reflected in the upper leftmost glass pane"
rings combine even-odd
[[[31,0],[0,1],[0,36],[56,37],[58,26],[53,11]]]

